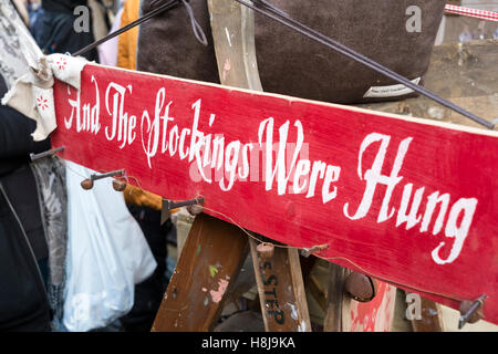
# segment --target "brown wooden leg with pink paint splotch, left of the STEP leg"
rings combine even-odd
[[[198,215],[152,332],[212,331],[247,254],[247,237],[239,228]]]

